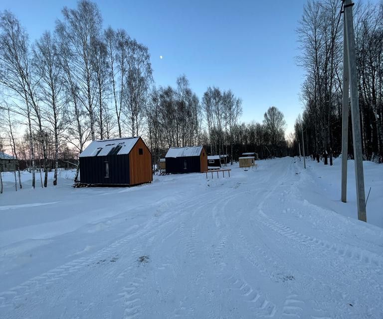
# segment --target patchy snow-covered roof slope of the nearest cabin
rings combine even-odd
[[[140,137],[92,141],[80,158],[129,154]]]

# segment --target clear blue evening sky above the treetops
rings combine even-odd
[[[207,86],[243,101],[241,121],[261,122],[269,106],[285,115],[287,132],[302,112],[303,71],[296,66],[295,29],[306,0],[98,0],[104,27],[124,28],[149,47],[157,85],[185,73],[199,97]],[[32,40],[53,30],[61,8],[76,0],[1,0]],[[160,55],[164,58],[161,60]]]

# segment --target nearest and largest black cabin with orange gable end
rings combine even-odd
[[[153,180],[152,154],[141,137],[93,141],[79,158],[82,184],[130,186]]]

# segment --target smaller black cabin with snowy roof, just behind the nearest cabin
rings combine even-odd
[[[167,173],[194,173],[207,170],[203,146],[170,148],[165,156]]]

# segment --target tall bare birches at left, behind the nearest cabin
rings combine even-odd
[[[102,30],[95,3],[81,0],[75,9],[64,7],[62,15],[53,32],[30,43],[20,21],[9,11],[0,13],[2,116],[9,121],[7,136],[12,126],[26,128],[33,187],[36,155],[43,159],[47,186],[52,140],[56,185],[60,148],[69,145],[80,153],[89,139],[142,133],[152,84],[148,48],[125,30]],[[14,156],[21,140],[10,138]]]

